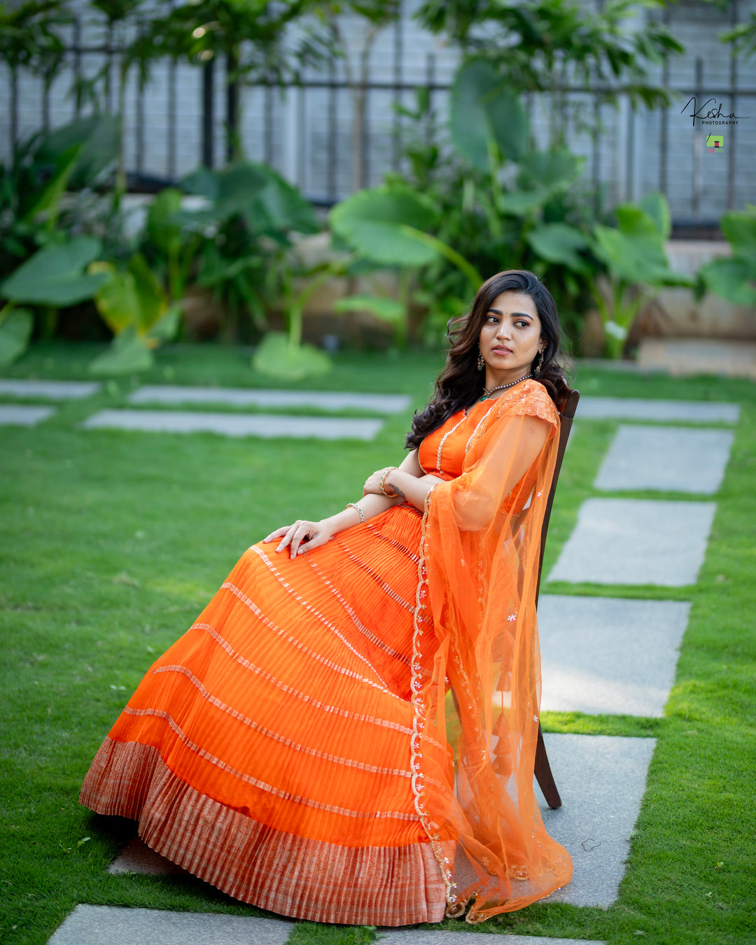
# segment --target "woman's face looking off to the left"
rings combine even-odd
[[[486,373],[514,380],[530,370],[543,347],[535,302],[522,292],[502,292],[490,303],[480,330]]]

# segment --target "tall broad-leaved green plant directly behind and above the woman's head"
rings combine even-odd
[[[592,273],[601,267],[590,249],[593,195],[576,180],[581,159],[563,148],[531,149],[519,96],[486,61],[472,60],[458,70],[446,140],[433,125],[425,127],[434,122],[427,99],[420,98],[412,116],[419,133],[407,150],[411,170],[387,180],[423,194],[434,206],[438,223],[430,235],[447,248],[422,266],[412,294],[426,312],[424,334],[445,331],[481,275],[528,268],[549,284],[575,337]],[[570,265],[561,258],[567,248]],[[467,261],[475,279],[449,249]]]

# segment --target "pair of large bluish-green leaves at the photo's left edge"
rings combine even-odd
[[[65,243],[49,243],[0,283],[0,366],[26,351],[34,324],[27,306],[58,309],[93,298],[108,281],[101,272],[86,272],[102,249],[92,236],[75,236]]]

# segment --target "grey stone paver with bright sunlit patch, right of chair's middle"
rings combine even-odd
[[[690,607],[543,594],[541,710],[661,717]]]

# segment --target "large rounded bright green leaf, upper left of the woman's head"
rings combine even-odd
[[[404,187],[357,191],[336,204],[329,221],[336,236],[373,262],[426,266],[438,259],[437,249],[405,229],[432,230],[438,212],[430,200]]]

